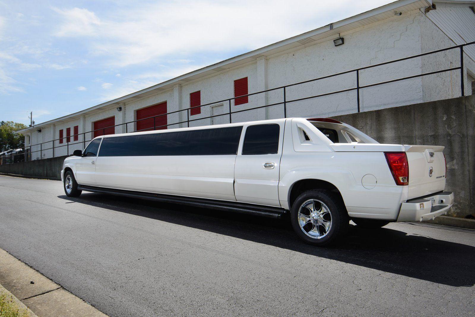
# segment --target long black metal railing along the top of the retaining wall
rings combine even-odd
[[[177,124],[183,124],[183,123],[187,123],[187,126],[189,127],[190,122],[199,121],[199,120],[203,120],[203,119],[210,119],[210,118],[215,118],[215,117],[220,117],[220,116],[229,116],[229,122],[231,123],[232,122],[232,114],[236,114],[236,113],[240,113],[240,112],[247,112],[247,111],[262,109],[262,108],[267,108],[267,107],[272,107],[272,106],[276,106],[276,105],[283,105],[283,114],[284,114],[283,117],[286,118],[287,117],[287,106],[288,106],[289,103],[295,103],[295,102],[298,102],[298,101],[303,101],[303,100],[308,100],[308,99],[312,99],[312,98],[318,98],[318,97],[333,95],[333,94],[336,94],[336,93],[350,92],[350,91],[356,91],[356,104],[355,104],[355,106],[357,108],[357,112],[360,112],[361,111],[361,109],[360,109],[360,90],[361,89],[365,89],[365,88],[369,88],[369,87],[373,87],[373,86],[378,86],[378,85],[382,85],[382,84],[394,83],[394,82],[398,82],[398,81],[402,81],[402,80],[408,80],[408,79],[411,79],[411,78],[417,78],[417,77],[422,77],[422,76],[427,76],[427,75],[434,75],[434,74],[449,72],[449,71],[453,71],[453,70],[460,70],[460,92],[461,92],[461,95],[464,96],[465,95],[465,87],[464,87],[465,86],[464,85],[464,47],[467,46],[467,45],[473,45],[473,44],[475,44],[475,41],[465,43],[465,44],[456,45],[456,46],[453,46],[453,47],[441,48],[441,49],[437,49],[437,50],[434,50],[434,51],[421,53],[421,54],[417,54],[417,55],[413,55],[413,56],[394,59],[394,60],[391,60],[391,61],[387,61],[387,62],[375,64],[375,65],[369,65],[369,66],[364,66],[364,67],[360,67],[360,68],[356,68],[356,69],[352,69],[352,70],[347,70],[347,71],[336,73],[336,74],[333,74],[333,75],[326,75],[326,76],[322,76],[322,77],[318,77],[318,78],[314,78],[314,79],[309,79],[309,80],[305,80],[305,81],[294,83],[294,84],[288,84],[288,85],[284,85],[284,86],[280,86],[280,87],[276,87],[276,88],[266,89],[266,90],[262,90],[262,91],[259,91],[259,92],[256,92],[256,93],[248,93],[246,95],[231,97],[231,98],[215,101],[215,102],[212,102],[212,103],[205,103],[205,104],[201,104],[199,106],[196,106],[196,107],[201,108],[201,107],[205,107],[205,106],[209,106],[209,105],[217,105],[217,104],[223,104],[224,105],[225,103],[228,103],[229,111],[227,113],[221,113],[221,114],[216,114],[216,115],[210,115],[210,116],[207,116],[207,117],[199,117],[199,118],[196,118],[196,119],[190,119],[190,109],[191,108],[186,108],[186,109],[180,109],[180,110],[176,110],[176,111],[172,111],[172,112],[167,112],[167,113],[155,115],[155,116],[148,117],[148,118],[143,118],[143,119],[138,119],[138,120],[129,121],[129,122],[125,122],[125,123],[115,124],[113,126],[109,126],[109,127],[102,128],[102,129],[96,129],[96,130],[92,130],[92,131],[82,132],[82,133],[74,134],[74,135],[71,135],[71,136],[66,136],[66,137],[63,137],[63,138],[60,138],[60,139],[55,139],[55,140],[50,140],[50,141],[46,141],[46,142],[42,142],[42,143],[38,143],[38,144],[25,146],[25,147],[21,148],[23,150],[23,153],[13,154],[13,152],[11,152],[10,155],[12,157],[10,158],[9,161],[10,162],[15,162],[15,159],[13,158],[15,155],[24,155],[24,160],[29,160],[31,158],[32,153],[36,153],[36,152],[40,152],[40,158],[42,158],[42,153],[44,151],[47,151],[47,150],[50,150],[50,149],[52,149],[53,157],[55,157],[55,149],[58,149],[58,148],[61,148],[61,147],[66,147],[67,148],[66,153],[67,153],[67,155],[69,155],[69,147],[72,146],[72,145],[82,143],[82,149],[85,149],[85,145],[86,145],[85,144],[85,142],[86,142],[85,139],[86,139],[86,134],[87,133],[91,133],[91,140],[92,140],[92,139],[94,139],[93,135],[96,131],[101,131],[102,135],[104,135],[106,130],[114,129],[114,133],[115,133],[115,127],[122,126],[122,125],[125,125],[125,133],[129,133],[129,131],[128,131],[128,125],[129,124],[136,124],[136,122],[138,122],[138,121],[144,121],[144,120],[150,120],[150,119],[153,119],[153,127],[146,128],[146,129],[141,129],[141,130],[134,130],[134,131],[130,131],[130,132],[161,130],[161,129],[166,129],[168,126],[171,126],[171,125],[177,125]],[[427,72],[427,73],[422,73],[422,74],[417,74],[417,75],[411,75],[411,76],[401,77],[401,78],[397,78],[397,79],[386,80],[386,81],[382,81],[382,82],[378,82],[378,83],[374,83],[374,84],[360,85],[360,72],[362,70],[370,69],[370,68],[378,67],[378,66],[382,66],[382,65],[397,63],[397,62],[401,62],[401,61],[405,61],[405,60],[408,60],[408,59],[417,58],[417,57],[421,57],[421,56],[428,56],[428,55],[432,55],[432,54],[436,54],[436,53],[444,52],[444,51],[448,51],[448,50],[453,50],[453,49],[457,49],[457,48],[460,50],[460,66],[458,66],[458,67],[444,68],[444,69],[437,70],[437,71],[432,71],[432,72]],[[327,79],[327,78],[331,78],[331,77],[335,77],[335,76],[339,76],[339,75],[350,74],[350,73],[355,73],[355,75],[356,75],[356,86],[355,87],[342,89],[342,90],[338,90],[338,91],[333,91],[333,92],[330,92],[330,93],[316,94],[316,95],[303,97],[303,98],[296,98],[296,99],[290,99],[290,100],[287,100],[287,98],[286,98],[287,88],[289,88],[289,87],[293,87],[293,86],[296,86],[296,85],[307,84],[307,83],[311,83],[311,82],[316,82],[318,80],[323,80],[323,79]],[[262,105],[262,106],[257,106],[257,107],[232,111],[232,108],[231,108],[231,101],[232,100],[235,100],[237,98],[243,98],[243,97],[257,95],[259,93],[268,93],[268,92],[273,92],[273,91],[282,91],[283,100],[278,102],[278,103],[270,103],[270,104],[265,104],[265,105]],[[193,107],[193,108],[195,108],[195,107]],[[168,122],[168,115],[175,114],[175,113],[181,113],[181,112],[184,112],[184,111],[186,111],[186,113],[187,113],[187,120],[186,121],[178,121],[178,122],[163,124],[163,125],[159,125],[159,126],[157,126],[155,124],[156,121],[157,121],[157,118],[167,116],[167,122]],[[78,141],[78,142],[71,142],[70,141],[71,138],[75,138],[76,136],[77,136],[77,139],[79,139],[79,136],[81,136],[81,135],[82,135],[82,140],[81,141]],[[55,146],[55,142],[59,142],[60,140],[65,140],[65,139],[66,139],[66,144]],[[52,147],[43,148],[43,144],[47,144],[47,143],[52,143]],[[63,142],[61,142],[60,144],[62,144],[62,143]],[[40,147],[39,150],[31,151],[32,147],[38,146],[38,145]],[[30,149],[30,151],[27,153],[27,151],[25,149]],[[3,160],[3,161],[5,161],[5,160]],[[1,164],[1,158],[0,158],[0,164]]]

